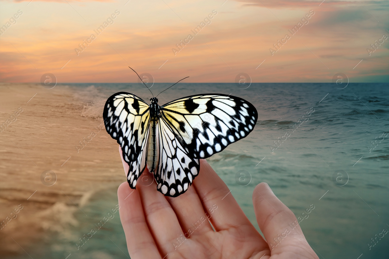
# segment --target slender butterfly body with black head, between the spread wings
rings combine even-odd
[[[158,101],[158,100],[157,100]],[[149,143],[147,145],[147,169],[149,172],[154,172],[158,165],[159,159],[159,145],[157,136],[157,123],[158,123],[159,106],[154,101],[150,105],[150,136]]]

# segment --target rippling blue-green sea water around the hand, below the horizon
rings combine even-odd
[[[135,83],[67,85],[75,98],[89,104],[89,116],[102,113],[107,97],[118,91],[146,101],[151,97]],[[156,96],[170,85],[155,83],[151,90]],[[371,240],[389,230],[388,86],[350,83],[337,89],[331,83],[252,83],[240,89],[232,83],[179,83],[158,99],[162,105],[193,94],[223,93],[250,101],[258,109],[253,132],[208,161],[254,226],[252,191],[266,182],[296,217],[302,218],[305,209],[314,205],[300,226],[319,258],[356,259],[361,254],[361,259],[388,258],[389,235],[374,246]],[[74,240],[54,236],[40,245],[36,255],[128,258],[118,213],[79,250],[76,245],[115,208],[116,191],[94,195],[83,209],[88,217],[75,212],[81,228],[70,229]]]

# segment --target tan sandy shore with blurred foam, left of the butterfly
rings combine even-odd
[[[47,231],[77,226],[77,206],[125,181],[102,118],[83,112],[88,107],[67,87],[0,84],[2,256],[17,256]]]

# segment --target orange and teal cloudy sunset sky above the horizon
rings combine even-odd
[[[380,0],[0,1],[0,82],[137,82],[128,66],[157,83],[389,82],[388,11]]]

